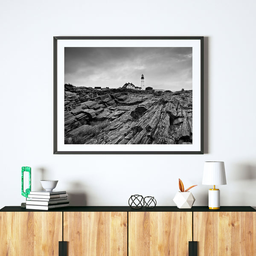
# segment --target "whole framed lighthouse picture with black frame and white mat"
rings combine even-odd
[[[203,37],[54,37],[54,154],[203,154]]]

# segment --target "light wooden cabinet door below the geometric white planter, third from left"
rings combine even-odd
[[[192,212],[129,212],[129,256],[188,256]]]

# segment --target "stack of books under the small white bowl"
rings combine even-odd
[[[26,199],[26,209],[48,210],[69,206],[66,191],[31,191]]]

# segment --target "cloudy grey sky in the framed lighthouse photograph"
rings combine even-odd
[[[192,47],[65,47],[65,83],[162,90],[192,89]]]

